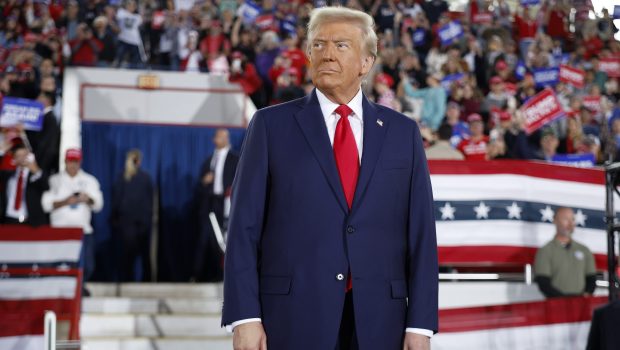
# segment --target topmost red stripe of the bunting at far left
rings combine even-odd
[[[82,229],[0,225],[0,241],[81,241]]]

